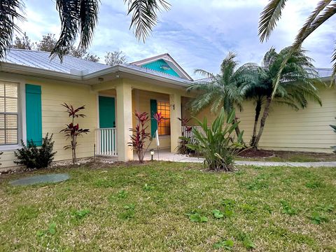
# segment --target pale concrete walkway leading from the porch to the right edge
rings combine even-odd
[[[172,161],[172,162],[204,162],[204,158],[192,158],[186,155],[171,153],[169,150],[155,150],[154,160]],[[137,155],[134,155],[134,160],[137,160]],[[151,155],[146,153],[145,160],[151,160]],[[269,162],[269,161],[248,161],[237,160],[237,165],[255,165],[255,166],[283,166],[283,167],[336,167],[336,162]]]

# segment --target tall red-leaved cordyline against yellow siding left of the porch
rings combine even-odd
[[[69,125],[66,125],[66,127],[61,130],[60,132],[64,132],[66,139],[71,139],[71,143],[67,146],[64,146],[63,148],[65,150],[71,148],[72,151],[72,162],[73,164],[77,161],[76,157],[76,147],[78,145],[77,143],[77,137],[80,137],[82,134],[87,134],[87,132],[90,132],[89,129],[80,129],[78,123],[75,125],[74,120],[75,118],[83,118],[85,117],[84,114],[79,113],[79,111],[85,109],[84,106],[80,106],[77,109],[74,109],[72,105],[68,105],[64,102],[64,104],[61,104],[66,108],[66,113],[69,113],[69,117],[72,119],[71,123]]]

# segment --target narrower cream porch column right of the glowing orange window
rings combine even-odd
[[[170,151],[176,153],[181,137],[181,95],[169,94],[170,103]]]

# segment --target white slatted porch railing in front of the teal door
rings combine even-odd
[[[96,130],[96,155],[112,155],[117,153],[117,128],[102,128]]]

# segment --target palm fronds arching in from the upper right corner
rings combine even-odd
[[[267,6],[260,13],[259,20],[259,36],[260,41],[266,41],[274,28],[276,27],[276,22],[281,18],[282,10],[286,6],[287,0],[270,0]],[[297,34],[295,41],[288,52],[288,56],[283,60],[283,64],[279,69],[279,73],[274,80],[274,90],[277,89],[277,85],[280,83],[281,71],[286,65],[286,61],[289,59],[290,54],[294,53],[295,50],[299,50],[303,41],[320,25],[331,18],[336,13],[336,1],[335,0],[321,0],[317,3],[314,11],[311,12],[303,27]],[[332,53],[333,71],[332,76],[336,74],[336,48]],[[274,96],[275,93],[272,95]]]

